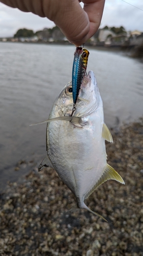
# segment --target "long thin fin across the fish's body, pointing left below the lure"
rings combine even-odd
[[[37,125],[37,124],[41,124],[41,123],[47,123],[47,122],[51,122],[51,121],[72,121],[72,123],[79,123],[79,119],[80,117],[74,117],[74,116],[59,116],[59,117],[55,117],[55,118],[51,118],[51,119],[47,119],[45,121],[42,121],[40,123],[34,123],[34,124],[30,124],[30,126],[32,125]]]

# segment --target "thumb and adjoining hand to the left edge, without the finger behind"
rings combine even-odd
[[[80,0],[79,0],[80,1]],[[90,31],[87,13],[78,0],[0,0],[24,12],[33,12],[52,20],[73,44],[80,45]]]

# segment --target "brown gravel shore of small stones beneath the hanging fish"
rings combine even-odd
[[[86,200],[108,222],[87,210],[67,212],[76,207],[71,191],[53,169],[34,167],[0,194],[1,256],[143,255],[143,120],[111,133],[108,164],[125,185],[107,181]]]

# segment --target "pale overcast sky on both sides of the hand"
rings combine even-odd
[[[143,32],[143,0],[106,0],[101,28],[123,26],[127,31]],[[136,6],[137,8],[133,7]],[[140,9],[142,10],[140,10]],[[43,28],[52,28],[54,23],[32,13],[24,13],[0,3],[0,37],[13,36],[19,28],[32,29],[34,32]]]

